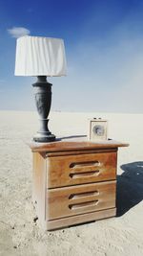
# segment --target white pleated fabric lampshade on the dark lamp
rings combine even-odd
[[[17,39],[15,76],[65,76],[64,41],[59,38],[22,36]]]

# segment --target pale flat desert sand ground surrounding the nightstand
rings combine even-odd
[[[117,217],[52,232],[34,222],[32,158],[27,143],[35,112],[0,111],[0,256],[143,255],[143,115],[51,112],[57,137],[86,135],[88,118],[109,120],[109,137],[130,143],[118,151]]]

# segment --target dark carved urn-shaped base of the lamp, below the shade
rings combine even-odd
[[[51,85],[46,76],[38,76],[37,81],[32,84],[35,105],[40,117],[40,129],[33,137],[36,142],[51,142],[55,140],[55,136],[51,134],[48,128],[48,116],[51,110]]]

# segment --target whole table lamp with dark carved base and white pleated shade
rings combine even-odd
[[[15,76],[33,76],[35,105],[40,117],[40,129],[33,140],[51,142],[55,136],[48,128],[51,110],[51,83],[47,77],[66,76],[64,41],[59,38],[22,36],[17,39]]]

